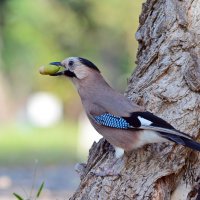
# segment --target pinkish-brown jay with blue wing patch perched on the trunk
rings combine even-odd
[[[66,76],[73,82],[91,124],[114,146],[117,159],[122,157],[124,151],[130,152],[145,144],[168,141],[200,151],[200,143],[189,135],[111,88],[97,66],[89,60],[69,57],[50,65],[65,68],[51,76]],[[108,170],[99,175],[112,173]]]

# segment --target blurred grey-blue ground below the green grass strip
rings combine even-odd
[[[73,165],[37,167],[36,176],[32,167],[0,167],[0,200],[14,200],[13,192],[28,199],[34,182],[36,189],[45,182],[40,200],[69,199],[79,183]],[[35,194],[34,190],[32,194]]]

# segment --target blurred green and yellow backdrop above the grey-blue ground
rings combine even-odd
[[[85,57],[123,92],[135,67],[141,5],[142,0],[0,1],[0,167],[86,159],[87,152],[77,150],[82,108],[76,91],[64,78],[41,76],[38,68]]]

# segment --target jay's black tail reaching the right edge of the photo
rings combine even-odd
[[[185,138],[183,136],[179,135],[173,135],[173,134],[166,134],[166,133],[160,133],[164,138],[171,140],[177,144],[181,144],[183,146],[189,147],[193,150],[200,151],[200,143],[195,142],[192,139]]]

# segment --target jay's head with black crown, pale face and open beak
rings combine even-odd
[[[63,71],[51,74],[51,76],[66,76],[74,80],[82,80],[94,73],[100,73],[99,69],[89,60],[80,57],[69,57],[61,62],[52,62],[50,65],[62,66]]]

